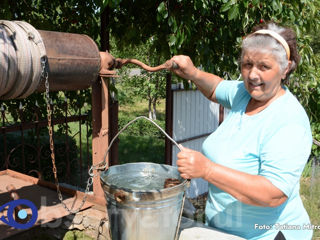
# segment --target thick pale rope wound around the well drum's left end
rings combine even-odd
[[[39,32],[22,21],[0,20],[0,99],[25,98],[41,80],[41,58],[46,56]]]

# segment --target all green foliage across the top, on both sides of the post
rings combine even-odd
[[[138,59],[147,63],[185,54],[206,71],[232,77],[239,75],[242,37],[254,25],[270,20],[288,25],[297,33],[302,56],[289,88],[307,110],[313,136],[319,140],[319,4],[318,0],[3,0],[0,18],[25,20],[38,29],[88,34],[98,43],[99,16],[108,6],[114,56],[123,57],[128,55],[125,49],[146,44],[148,51]],[[90,93],[86,93],[87,101]]]

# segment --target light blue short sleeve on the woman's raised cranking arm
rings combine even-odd
[[[244,89],[242,81],[221,81],[215,90],[215,95],[218,103],[220,103],[225,108],[231,109],[235,96],[239,92],[239,89]]]

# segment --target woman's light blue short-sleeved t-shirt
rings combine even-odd
[[[222,81],[215,93],[218,102],[231,110],[203,143],[205,156],[226,167],[266,177],[288,199],[278,207],[257,207],[209,184],[207,224],[251,240],[271,240],[279,231],[287,240],[311,239],[312,226],[299,195],[300,176],[312,146],[303,107],[286,88],[286,93],[263,111],[248,116],[245,110],[251,96],[243,82]]]

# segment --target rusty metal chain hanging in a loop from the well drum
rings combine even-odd
[[[47,104],[47,118],[48,118],[48,130],[49,130],[49,140],[50,140],[50,151],[51,151],[51,160],[52,160],[52,172],[54,175],[54,180],[55,180],[55,184],[57,187],[57,193],[58,193],[58,198],[62,204],[62,206],[64,207],[64,209],[66,209],[69,213],[71,214],[75,214],[78,213],[81,208],[83,207],[85,201],[87,200],[87,196],[90,190],[91,185],[93,184],[93,177],[91,176],[88,178],[87,180],[87,186],[85,189],[85,195],[82,199],[82,202],[80,203],[79,207],[76,210],[73,210],[72,208],[69,209],[67,207],[67,205],[63,202],[63,197],[62,197],[62,193],[60,190],[60,184],[59,184],[59,180],[58,180],[58,174],[57,174],[57,166],[56,166],[56,160],[55,160],[55,154],[54,154],[54,142],[53,142],[53,129],[52,129],[52,109],[51,109],[51,105],[50,105],[50,95],[49,95],[49,74],[48,71],[46,69],[46,64],[47,64],[47,59],[44,57],[41,59],[41,65],[42,65],[42,71],[41,71],[41,77],[42,79],[45,80],[45,99],[46,99],[46,104]]]

